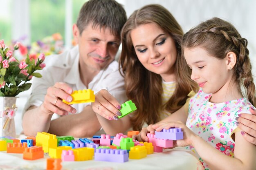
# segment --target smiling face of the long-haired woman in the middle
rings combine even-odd
[[[159,26],[148,23],[131,31],[132,44],[141,64],[161,75],[166,82],[174,81],[177,50],[174,40]]]

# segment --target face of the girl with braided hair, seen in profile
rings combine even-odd
[[[232,78],[227,57],[218,59],[200,47],[185,48],[184,56],[192,70],[191,79],[198,83],[204,93],[227,93]]]

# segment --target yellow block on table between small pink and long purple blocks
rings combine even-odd
[[[87,161],[92,160],[94,156],[94,148],[76,148],[72,149],[75,156],[75,161]]]

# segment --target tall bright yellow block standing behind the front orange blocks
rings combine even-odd
[[[57,147],[56,135],[47,132],[37,132],[36,146],[42,146],[44,152],[49,152],[49,148]]]

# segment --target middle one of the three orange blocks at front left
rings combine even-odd
[[[23,159],[35,160],[44,157],[43,147],[42,146],[32,146],[30,148],[25,148],[23,152]]]

